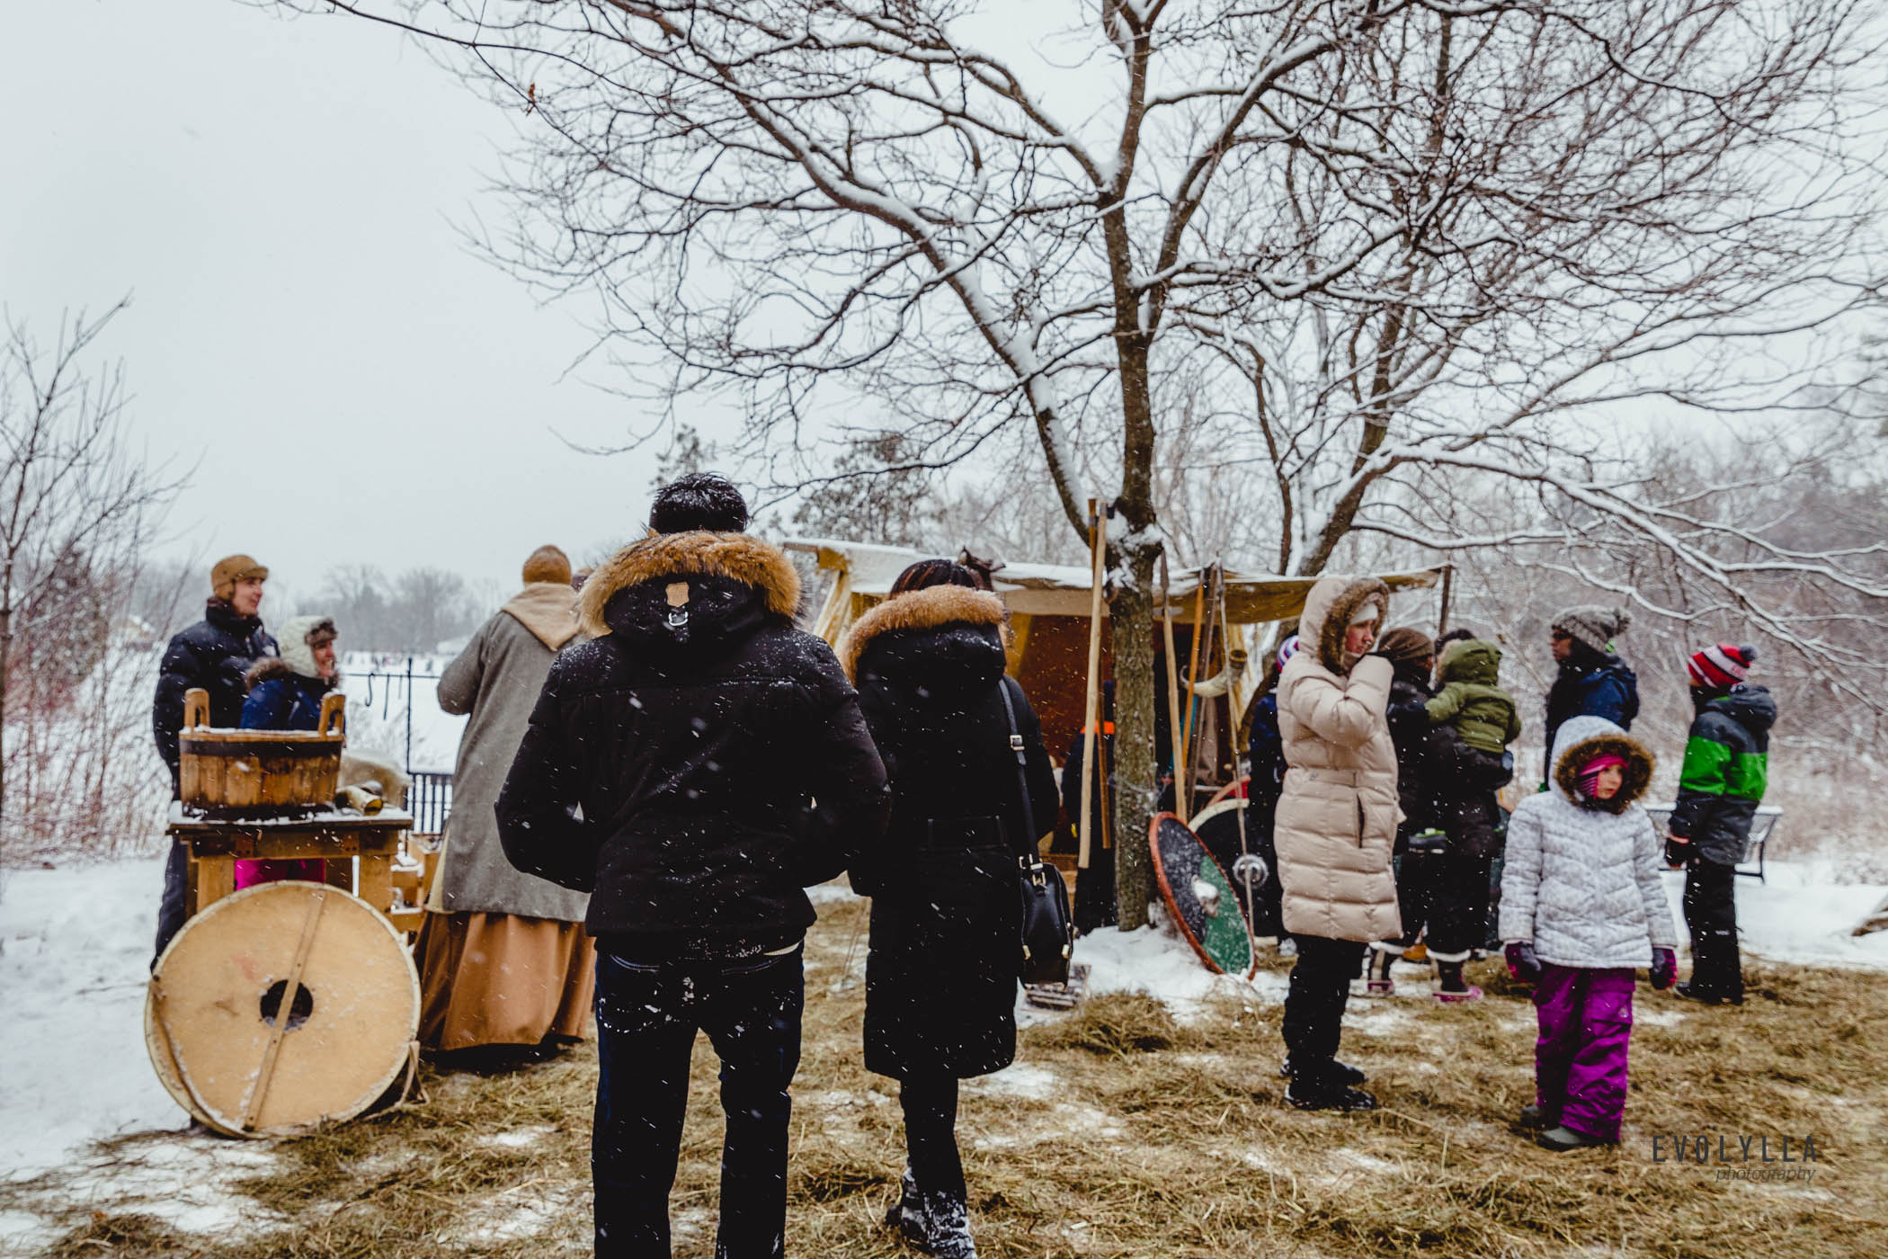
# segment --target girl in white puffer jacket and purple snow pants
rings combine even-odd
[[[1535,1104],[1522,1123],[1548,1150],[1616,1144],[1626,1110],[1633,970],[1678,974],[1678,932],[1660,881],[1660,842],[1637,804],[1652,753],[1605,717],[1571,717],[1552,789],[1509,819],[1501,938],[1509,970],[1535,983]]]

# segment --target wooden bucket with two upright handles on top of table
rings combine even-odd
[[[347,742],[346,702],[340,691],[327,695],[313,730],[217,730],[210,693],[187,691],[177,734],[183,804],[211,817],[330,806]]]

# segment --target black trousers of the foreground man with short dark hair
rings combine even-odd
[[[778,1259],[787,1233],[787,1085],[801,1065],[801,951],[729,963],[597,955],[597,1255],[666,1259],[689,1053],[721,1055],[716,1259]]]

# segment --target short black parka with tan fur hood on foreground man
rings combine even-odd
[[[746,534],[646,538],[583,585],[593,638],[551,664],[497,815],[514,866],[591,893],[598,948],[791,946],[802,887],[884,829],[859,697],[797,606],[793,564]]]

